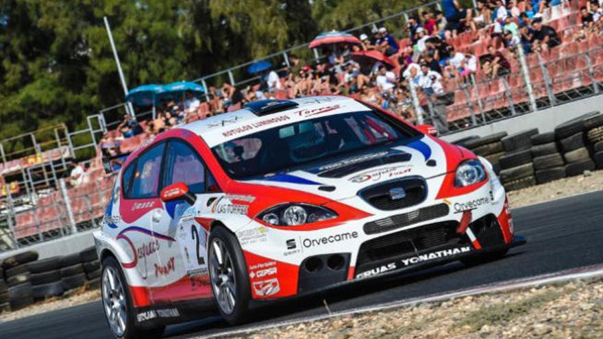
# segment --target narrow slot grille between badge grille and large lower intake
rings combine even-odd
[[[441,218],[442,216],[447,216],[448,212],[450,212],[448,205],[441,203],[439,205],[419,208],[412,212],[396,214],[395,216],[388,216],[387,218],[365,223],[364,229],[366,234],[378,234],[406,227],[408,225],[422,223],[423,221]]]

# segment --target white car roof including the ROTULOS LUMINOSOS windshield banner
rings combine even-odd
[[[290,101],[297,105],[270,114],[256,114],[249,108],[243,108],[210,116],[186,124],[182,128],[193,131],[201,136],[209,147],[214,147],[246,134],[315,118],[319,114],[325,116],[369,110],[363,103],[343,96],[304,97]]]

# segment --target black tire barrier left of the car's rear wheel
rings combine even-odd
[[[27,251],[0,264],[0,313],[20,310],[67,292],[100,288],[101,267],[95,247],[42,260]]]

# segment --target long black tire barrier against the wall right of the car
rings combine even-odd
[[[507,190],[603,169],[603,114],[589,112],[539,134],[527,129],[453,142],[491,162]]]

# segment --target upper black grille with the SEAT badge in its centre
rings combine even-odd
[[[389,191],[395,188],[403,188],[406,196],[401,199],[392,199]],[[374,208],[385,211],[398,210],[417,205],[425,200],[427,184],[425,179],[413,177],[371,186],[360,190],[358,194]]]

